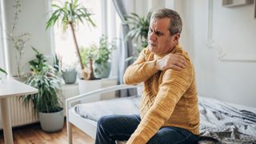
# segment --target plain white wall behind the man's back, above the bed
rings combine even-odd
[[[224,7],[221,0],[213,1],[215,46],[210,49],[207,46],[208,2],[179,0],[174,5],[182,16],[180,43],[194,61],[198,95],[256,107],[254,4]]]

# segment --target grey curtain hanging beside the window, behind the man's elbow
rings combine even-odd
[[[126,38],[126,34],[129,31],[129,26],[127,24],[125,24],[125,20],[126,20],[126,8],[123,5],[123,1],[122,0],[113,0],[114,2],[114,7],[115,10],[117,11],[119,17],[122,20],[122,26],[121,26],[121,30],[120,30],[120,43],[119,43],[119,57],[118,57],[118,84],[122,84],[123,83],[123,74],[125,73],[125,70],[128,66],[130,66],[130,64],[132,62],[127,62],[126,58],[129,58],[130,56],[133,55],[133,45],[131,42],[130,38]],[[125,40],[126,39],[126,40]],[[126,97],[126,96],[131,96],[131,95],[135,95],[137,94],[136,90],[121,90],[120,92],[120,96],[121,97]]]

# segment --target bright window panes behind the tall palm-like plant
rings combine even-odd
[[[54,0],[54,3],[59,2]],[[120,22],[120,20],[114,10],[112,1],[79,0],[78,2],[85,6],[90,13],[94,14],[91,18],[97,25],[96,27],[89,27],[85,22],[76,27],[79,47],[87,47],[90,44],[98,43],[102,34],[105,34],[109,40],[117,38],[120,23],[118,26],[116,26],[116,23]],[[54,26],[54,48],[56,54],[62,60],[62,66],[74,66],[74,63],[78,62],[70,27],[64,33],[60,25]]]

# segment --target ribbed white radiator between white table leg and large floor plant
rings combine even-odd
[[[8,102],[12,126],[22,126],[38,122],[38,114],[34,113],[32,102],[26,105],[20,97],[8,98]],[[0,118],[0,129],[2,129],[2,118]]]

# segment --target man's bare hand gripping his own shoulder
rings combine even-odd
[[[158,70],[181,70],[186,67],[186,61],[182,55],[167,54],[165,57],[157,60],[156,66]]]

